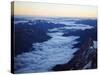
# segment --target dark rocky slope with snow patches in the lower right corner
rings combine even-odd
[[[91,38],[74,55],[71,61],[66,64],[56,65],[52,70],[64,71],[97,68],[97,48]]]

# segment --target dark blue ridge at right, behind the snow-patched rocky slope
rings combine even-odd
[[[80,39],[77,41],[80,41],[80,43],[76,44],[75,47],[81,47],[85,41],[88,41],[89,38],[91,38],[94,41],[97,41],[97,27],[86,29],[86,30],[71,30],[70,32],[65,32],[63,36],[80,36]]]

